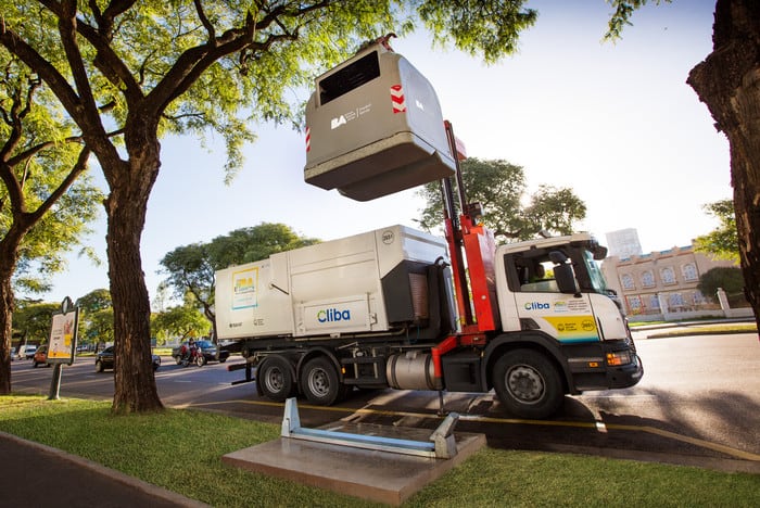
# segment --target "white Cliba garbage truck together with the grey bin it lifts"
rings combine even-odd
[[[493,390],[509,414],[543,419],[566,394],[641,380],[628,320],[597,265],[606,249],[588,233],[496,245],[467,202],[453,128],[408,62],[370,45],[316,81],[305,180],[366,201],[440,179],[444,236],[389,225],[217,271],[218,339],[245,358],[230,367],[245,369],[240,382],[318,405],[355,388],[435,391],[441,401]],[[355,126],[343,131],[345,123]]]

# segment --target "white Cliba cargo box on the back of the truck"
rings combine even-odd
[[[219,338],[385,333],[413,323],[422,335],[431,320],[428,295],[413,299],[430,283],[427,267],[439,258],[446,259],[442,239],[395,225],[218,270]],[[438,279],[430,280],[438,290]],[[439,295],[428,297],[440,305]],[[441,312],[434,310],[438,330]]]

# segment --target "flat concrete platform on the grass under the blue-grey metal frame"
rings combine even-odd
[[[426,441],[431,431],[368,423],[324,426],[340,432]],[[231,466],[388,505],[401,505],[485,445],[485,435],[454,433],[457,455],[435,459],[280,437],[225,455]]]

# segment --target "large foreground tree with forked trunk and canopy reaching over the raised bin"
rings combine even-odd
[[[438,41],[452,39],[486,61],[514,51],[519,31],[536,17],[521,0],[0,5],[0,45],[53,90],[109,185],[109,278],[116,354],[124,358],[115,371],[117,412],[163,407],[150,368],[148,290],[135,277],[142,272],[140,238],[161,166],[161,135],[219,132],[231,175],[241,163],[241,144],[253,138],[249,120],[294,122],[286,91],[309,85],[315,66],[345,59],[360,39],[407,33],[413,12]],[[239,117],[241,112],[251,118]]]

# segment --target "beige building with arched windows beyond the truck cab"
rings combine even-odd
[[[720,314],[715,295],[697,289],[699,277],[711,268],[735,266],[731,261],[713,261],[694,245],[601,262],[607,283],[618,293],[625,314],[641,320]]]

